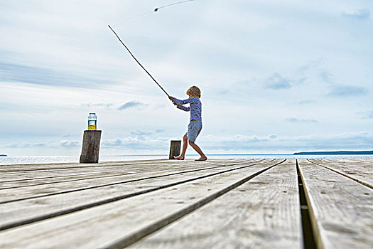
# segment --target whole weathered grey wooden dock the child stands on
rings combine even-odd
[[[373,159],[0,166],[0,248],[373,248]]]

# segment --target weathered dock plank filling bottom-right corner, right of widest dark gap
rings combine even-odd
[[[372,248],[373,190],[298,160],[319,248]]]

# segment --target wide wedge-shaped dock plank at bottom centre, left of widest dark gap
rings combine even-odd
[[[295,159],[129,248],[303,248]]]

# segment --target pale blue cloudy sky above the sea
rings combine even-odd
[[[168,154],[202,92],[206,154],[373,149],[372,0],[1,0],[0,154]],[[187,154],[194,154],[189,148]]]

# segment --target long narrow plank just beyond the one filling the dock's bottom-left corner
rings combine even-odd
[[[267,160],[272,161],[272,160]],[[54,196],[45,196],[43,198],[32,198],[23,201],[16,201],[11,203],[2,203],[0,205],[1,213],[4,214],[4,218],[1,219],[1,227],[10,226],[11,223],[17,223],[18,221],[33,220],[39,216],[48,217],[59,216],[61,213],[68,213],[75,211],[77,208],[87,208],[87,205],[93,203],[99,203],[106,201],[110,198],[119,198],[124,196],[125,198],[134,196],[135,194],[141,194],[144,191],[151,191],[151,189],[161,188],[168,184],[175,184],[180,181],[193,180],[198,177],[207,177],[211,174],[219,174],[220,172],[237,169],[242,166],[251,166],[253,164],[260,164],[261,161],[252,162],[249,161],[246,164],[233,164],[231,166],[217,166],[215,168],[210,167],[206,170],[197,169],[195,171],[190,170],[183,174],[174,174],[164,177],[152,176],[151,173],[148,179],[142,181],[131,181],[124,184],[116,184],[112,186],[103,186],[96,189],[85,189],[84,191],[70,192],[66,194],[58,194]],[[266,162],[264,162],[265,164]],[[128,197],[127,197],[128,196]],[[102,203],[99,203],[102,205]],[[81,207],[81,208],[80,208]],[[42,217],[45,218],[45,217]],[[38,219],[37,219],[38,220]]]

